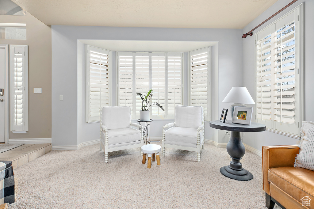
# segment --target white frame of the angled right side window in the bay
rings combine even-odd
[[[207,61],[207,66],[208,66],[208,69],[207,69],[207,115],[205,116],[204,115],[204,121],[211,121],[211,117],[212,117],[212,111],[211,111],[211,96],[212,96],[212,82],[211,82],[211,79],[212,79],[212,47],[211,46],[207,46],[207,47],[204,47],[204,48],[201,48],[201,49],[197,49],[197,50],[193,50],[193,51],[189,51],[188,52],[188,85],[189,85],[189,90],[188,90],[188,104],[191,105],[191,96],[192,96],[192,92],[191,92],[191,85],[192,85],[192,82],[191,82],[191,77],[192,77],[192,74],[191,74],[191,71],[192,71],[192,67],[191,67],[191,54],[193,52],[197,52],[197,51],[204,51],[204,50],[207,50],[208,52],[208,61]]]

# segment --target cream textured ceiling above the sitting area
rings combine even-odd
[[[12,0],[47,25],[242,29],[277,0]]]

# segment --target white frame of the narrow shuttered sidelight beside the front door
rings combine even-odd
[[[23,122],[24,128],[19,128],[15,126],[14,123],[14,48],[21,47],[24,48],[24,60],[23,60],[23,71],[22,71],[22,86],[24,87],[23,91]],[[23,57],[23,55],[22,55]],[[10,130],[12,133],[26,133],[29,131],[29,81],[28,81],[28,45],[10,45]]]

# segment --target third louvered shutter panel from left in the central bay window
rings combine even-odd
[[[152,63],[152,88],[154,96],[152,97],[152,103],[159,103],[165,105],[166,97],[166,53],[150,53]],[[165,111],[162,111],[160,107],[153,105],[151,107],[153,118],[164,118]]]

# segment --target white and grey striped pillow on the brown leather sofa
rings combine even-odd
[[[303,121],[301,127],[300,153],[295,158],[295,167],[314,170],[314,123]]]

